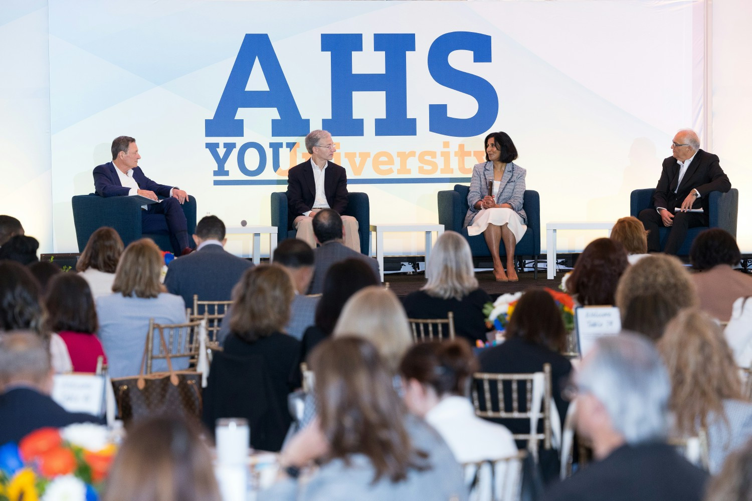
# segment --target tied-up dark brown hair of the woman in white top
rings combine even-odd
[[[478,372],[478,360],[462,338],[417,343],[402,358],[399,372],[406,380],[415,379],[432,388],[437,397],[467,397],[472,375]]]

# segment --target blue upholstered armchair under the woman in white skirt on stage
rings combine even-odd
[[[438,222],[444,230],[456,231],[468,240],[474,256],[490,256],[484,236],[468,237],[467,228],[462,228],[468,211],[469,186],[454,185],[452,191],[438,192]],[[538,278],[538,255],[541,254],[541,198],[538,192],[526,190],[523,209],[527,214],[527,231],[522,240],[517,242],[515,254],[530,255],[536,261],[534,276]],[[507,255],[504,243],[499,246],[500,255]]]

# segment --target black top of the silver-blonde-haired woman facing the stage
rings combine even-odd
[[[426,291],[408,294],[402,304],[408,318],[447,318],[448,312],[454,314],[454,331],[475,346],[476,340],[486,342],[486,318],[483,306],[491,302],[491,297],[481,288],[475,289],[462,300],[441,299],[429,296]]]

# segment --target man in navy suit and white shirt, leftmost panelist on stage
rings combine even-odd
[[[94,168],[94,188],[101,197],[125,197],[141,195],[151,200],[165,197],[159,204],[149,204],[141,211],[141,231],[170,235],[175,255],[191,252],[188,243],[188,223],[180,204],[188,200],[188,194],[177,186],[154,183],[138,167],[136,140],[129,136],[115,137],[112,141],[112,161]],[[159,195],[159,196],[157,196]],[[153,217],[162,214],[165,217]],[[166,228],[165,228],[166,219]]]

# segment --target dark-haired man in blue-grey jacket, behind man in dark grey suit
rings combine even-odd
[[[308,287],[314,277],[314,249],[297,238],[288,238],[274,249],[271,262],[283,267],[293,277],[295,297],[290,305],[290,321],[285,332],[300,340],[305,329],[314,324],[316,306],[320,296],[307,296]]]

